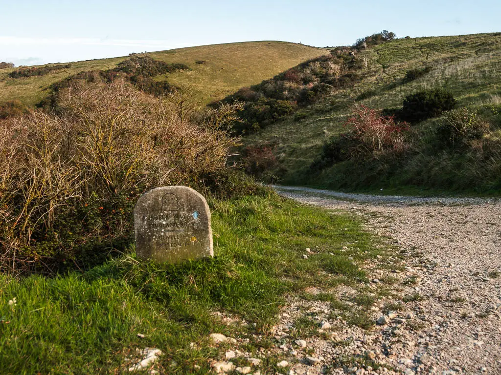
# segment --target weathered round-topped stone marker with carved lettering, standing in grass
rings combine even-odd
[[[209,206],[190,187],[146,191],[134,207],[134,232],[143,259],[176,263],[214,255]]]

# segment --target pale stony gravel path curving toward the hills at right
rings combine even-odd
[[[501,374],[498,199],[276,189],[304,203],[361,214],[367,218],[368,229],[389,236],[408,255],[405,271],[397,273],[400,280],[411,281],[399,283],[402,310],[387,313],[382,324],[369,331],[341,327],[336,330],[337,344],[320,338],[307,341],[310,351],[314,350],[312,355],[323,363],[332,363],[340,355],[362,355],[386,368],[375,371],[367,363],[351,368],[335,365],[328,367],[328,373]],[[283,327],[300,303],[291,301],[282,317]],[[383,314],[383,307],[377,307],[371,311],[375,319]],[[322,311],[329,307],[315,302],[308,308],[318,310],[321,319]],[[326,367],[299,366],[292,371],[316,374],[326,372]]]

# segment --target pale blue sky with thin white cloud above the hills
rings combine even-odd
[[[0,0],[0,25],[0,61],[20,65],[247,40],[344,45],[383,29],[494,32],[501,1]]]

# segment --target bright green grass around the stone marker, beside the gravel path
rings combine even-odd
[[[364,285],[355,263],[381,253],[361,222],[345,213],[276,195],[212,201],[211,207],[213,258],[154,264],[136,259],[131,248],[85,273],[1,274],[0,368],[12,374],[121,373],[136,348],[157,347],[164,352],[155,365],[162,373],[207,373],[209,359],[227,347],[210,345],[210,333],[250,338],[242,348],[255,352],[266,345],[267,328],[287,293],[339,280]],[[353,260],[329,255],[355,242]],[[306,247],[315,253],[303,259]],[[216,312],[240,323],[225,323]],[[352,320],[370,325],[359,314]],[[262,371],[275,363],[265,360]]]

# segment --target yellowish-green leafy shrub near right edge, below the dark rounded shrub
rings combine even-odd
[[[476,110],[463,107],[444,116],[437,127],[436,135],[443,145],[462,148],[483,137],[488,130],[488,122],[484,121]]]

